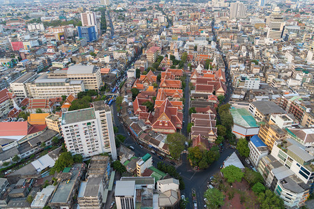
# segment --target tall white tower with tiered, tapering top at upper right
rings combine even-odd
[[[267,31],[267,38],[281,39],[283,38],[283,30],[285,29],[285,22],[281,16],[281,9],[276,7],[271,13],[271,18]]]

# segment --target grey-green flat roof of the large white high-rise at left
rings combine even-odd
[[[90,121],[96,118],[93,108],[67,111],[62,114],[61,124],[77,123],[81,121]]]

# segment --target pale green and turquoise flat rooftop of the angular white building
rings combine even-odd
[[[230,109],[234,124],[241,125],[243,127],[258,127],[253,116],[244,108]]]

